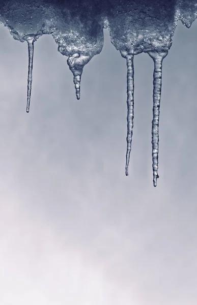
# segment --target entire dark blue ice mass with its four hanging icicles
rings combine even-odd
[[[134,55],[146,52],[154,60],[152,160],[153,184],[157,185],[159,107],[162,61],[172,45],[177,21],[190,27],[197,16],[197,0],[2,0],[0,22],[14,39],[26,41],[29,50],[27,106],[30,109],[34,43],[51,34],[58,50],[67,56],[76,97],[80,98],[83,67],[103,47],[103,28],[127,64],[126,175],[134,117]]]

